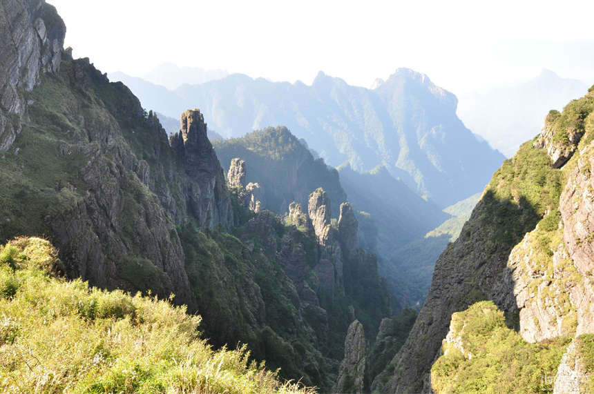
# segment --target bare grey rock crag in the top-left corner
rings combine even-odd
[[[45,0],[0,4],[0,152],[10,149],[26,122],[24,92],[39,72],[59,72],[66,26]]]

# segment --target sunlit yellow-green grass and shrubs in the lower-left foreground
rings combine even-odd
[[[57,274],[43,239],[0,247],[0,390],[43,393],[311,393],[212,351],[200,317],[156,298],[108,292]]]

